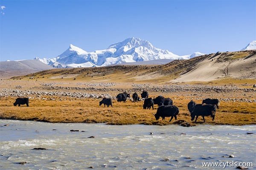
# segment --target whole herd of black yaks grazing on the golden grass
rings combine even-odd
[[[125,102],[128,97],[131,97],[130,94],[127,92],[120,93],[116,96],[117,102]],[[135,92],[132,95],[133,102],[140,101],[140,97]],[[170,98],[166,98],[164,96],[157,96],[157,98],[149,98],[148,92],[143,91],[141,94],[141,98],[144,99],[143,109],[150,109],[152,108],[154,110],[154,105],[158,105],[157,113],[153,114],[158,120],[160,117],[162,117],[162,120],[165,119],[165,117],[171,117],[169,122],[172,121],[173,118],[177,120],[177,114],[179,113],[179,108],[175,105],[173,105],[173,101]],[[19,97],[15,100],[15,103],[13,103],[14,106],[20,106],[25,105],[29,107],[29,98],[26,97]],[[111,98],[103,98],[102,101],[99,102],[99,105],[104,104],[104,107],[107,105],[107,107],[112,106],[112,100]],[[191,100],[188,103],[188,110],[191,116],[191,121],[195,119],[195,122],[198,119],[198,116],[202,116],[204,119],[204,116],[211,116],[212,121],[215,118],[216,110],[219,106],[219,100],[218,99],[204,99],[202,101],[202,104],[196,104],[193,100]],[[204,119],[205,122],[205,119]]]

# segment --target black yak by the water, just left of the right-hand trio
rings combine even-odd
[[[175,105],[163,105],[157,108],[157,113],[153,114],[155,118],[158,120],[160,117],[162,117],[162,120],[164,120],[165,117],[171,117],[170,121],[175,117],[175,120],[177,120],[177,114],[179,113],[179,108]]]

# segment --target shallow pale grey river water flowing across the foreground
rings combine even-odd
[[[230,154],[235,157],[229,158]],[[218,163],[218,167],[204,167],[206,162]],[[246,162],[256,169],[256,125],[182,127],[0,120],[0,170],[223,169],[225,162],[225,169]]]

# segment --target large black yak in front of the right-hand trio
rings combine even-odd
[[[190,113],[191,121],[195,119],[195,122],[196,122],[198,116],[202,116],[203,119],[204,119],[204,116],[211,116],[212,121],[214,121],[215,113],[216,113],[216,105],[196,104],[192,113]],[[204,122],[205,122],[205,119],[204,119]]]

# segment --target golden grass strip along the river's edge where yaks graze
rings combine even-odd
[[[174,97],[174,96],[173,96]],[[177,96],[175,96],[177,97]],[[0,119],[32,120],[52,123],[107,123],[111,125],[170,125],[175,123],[175,119],[169,122],[166,120],[156,121],[152,113],[155,110],[143,109],[143,102],[134,103],[113,101],[111,106],[99,106],[101,99],[78,99],[70,97],[53,97],[46,99],[30,99],[29,107],[13,106],[13,97],[0,98]],[[175,105],[180,109],[177,120],[185,120],[191,125],[196,124],[215,124],[215,125],[255,125],[256,106],[255,103],[247,102],[221,102],[220,109],[216,112],[215,121],[206,117],[203,123],[201,116],[198,122],[192,122],[187,110],[187,103],[190,99],[179,97],[174,100]],[[195,100],[197,103],[201,101]]]

